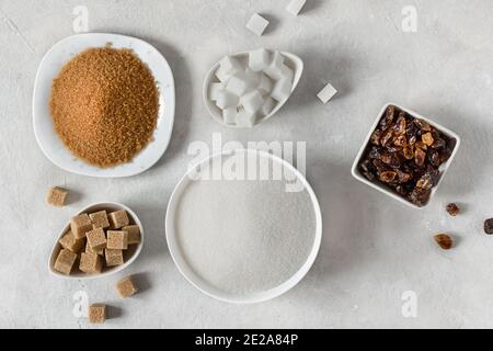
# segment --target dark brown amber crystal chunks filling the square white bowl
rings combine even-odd
[[[456,146],[423,120],[387,107],[360,161],[360,172],[383,183],[409,202],[424,206],[440,178],[439,166]]]

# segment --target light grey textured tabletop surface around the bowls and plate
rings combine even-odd
[[[288,1],[13,1],[0,0],[0,327],[88,327],[72,316],[72,295],[114,306],[103,327],[493,327],[493,2],[489,0],[308,0],[298,18]],[[177,109],[171,145],[151,170],[129,179],[91,179],[57,169],[37,147],[32,89],[45,52],[73,34],[72,9],[85,4],[90,31],[141,37],[170,61]],[[419,10],[417,33],[402,33],[401,10]],[[271,21],[256,37],[253,12]],[[202,80],[222,55],[280,48],[306,71],[287,105],[252,131],[213,122]],[[340,90],[328,105],[317,92]],[[393,101],[456,131],[462,149],[426,212],[413,211],[353,180],[349,168],[380,107]],[[307,278],[274,301],[234,306],[196,291],[177,272],[164,240],[169,195],[192,159],[194,140],[306,140],[307,178],[323,211],[318,260]],[[45,204],[51,185],[74,196],[66,208]],[[58,230],[91,202],[123,202],[141,216],[147,246],[127,272],[145,291],[119,301],[113,279],[78,282],[48,274]],[[450,219],[443,207],[462,203]],[[443,252],[431,236],[459,239]],[[401,295],[414,291],[416,318],[403,318]]]

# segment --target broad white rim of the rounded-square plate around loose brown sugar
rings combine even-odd
[[[39,89],[46,89],[46,78],[41,81],[41,77],[46,69],[45,66],[48,64],[48,58],[53,55],[53,53],[57,49],[60,49],[64,45],[67,45],[68,42],[74,41],[74,39],[84,39],[88,41],[89,38],[94,37],[98,39],[98,42],[93,45],[84,45],[80,50],[72,53],[70,56],[73,57],[73,55],[77,55],[78,53],[82,52],[85,48],[89,47],[101,47],[102,42],[105,43],[112,43],[117,44],[114,47],[127,47],[133,49],[131,44],[138,43],[139,45],[146,46],[148,49],[148,53],[152,53],[157,57],[158,60],[161,60],[163,72],[158,76],[167,76],[165,82],[160,82],[159,77],[156,75],[156,70],[151,69],[152,75],[154,76],[154,79],[158,83],[159,88],[159,115],[158,115],[158,125],[156,126],[154,133],[153,133],[153,140],[150,141],[146,148],[144,148],[139,154],[135,156],[133,160],[130,160],[127,163],[117,165],[112,168],[98,168],[95,166],[89,165],[83,160],[78,159],[76,156],[73,156],[70,150],[62,144],[61,140],[58,139],[58,137],[55,135],[55,131],[50,131],[53,135],[57,138],[57,143],[59,143],[59,146],[66,150],[72,158],[72,162],[68,162],[66,160],[62,160],[60,157],[55,157],[53,155],[53,151],[49,149],[53,149],[54,147],[48,147],[49,141],[47,140],[48,137],[45,137],[45,132],[42,132],[42,126],[39,123],[39,118],[49,116],[49,111],[39,111],[38,105],[43,104],[43,101],[41,100],[39,95],[42,93],[39,92]],[[104,41],[101,38],[104,37]],[[101,43],[100,43],[101,41]],[[113,43],[113,41],[126,41],[127,46],[118,45],[118,43]],[[135,50],[134,50],[135,52]],[[136,52],[135,52],[136,53]],[[149,63],[146,61],[144,57],[141,57],[138,53],[136,53],[137,56],[142,60],[145,65],[148,65]],[[67,63],[69,58],[66,58],[64,63]],[[61,66],[58,67],[61,69]],[[55,77],[51,77],[49,87],[51,87],[51,80]],[[43,84],[43,87],[39,87]],[[133,177],[136,174],[139,174],[141,172],[147,171],[152,166],[154,166],[161,157],[164,155],[164,151],[168,149],[168,146],[171,140],[171,135],[173,132],[173,124],[174,124],[174,114],[175,114],[175,86],[174,86],[174,77],[173,71],[171,70],[170,64],[165,59],[165,57],[151,44],[148,42],[128,36],[128,35],[122,35],[122,34],[113,34],[113,33],[83,33],[83,34],[74,34],[70,35],[68,37],[62,38],[61,41],[54,44],[43,56],[42,61],[39,63],[36,78],[34,81],[34,91],[33,91],[33,127],[34,127],[34,135],[36,138],[37,144],[39,145],[39,148],[42,149],[43,154],[46,156],[48,160],[50,160],[54,165],[61,168],[62,170],[76,174],[87,176],[87,177],[100,177],[100,178],[124,178],[124,177]],[[47,113],[47,114],[46,114]],[[51,122],[49,122],[51,123]],[[160,132],[163,131],[163,132]],[[167,132],[168,133],[164,133]],[[152,149],[149,149],[151,145],[154,144]],[[156,149],[156,150],[154,150]],[[151,151],[149,151],[151,150]],[[147,152],[146,152],[147,151]],[[152,152],[152,154],[148,154]],[[144,156],[142,156],[144,155]],[[142,161],[142,165],[138,165],[139,158],[146,157],[147,159]],[[70,165],[71,163],[71,165]],[[69,166],[68,166],[69,165]]]

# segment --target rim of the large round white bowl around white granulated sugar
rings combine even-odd
[[[177,214],[177,207],[180,204],[180,201],[186,191],[187,186],[194,182],[194,176],[193,172],[195,172],[197,169],[200,169],[203,167],[207,167],[208,165],[211,165],[210,162],[214,162],[213,160],[221,158],[221,157],[230,157],[233,154],[237,152],[257,152],[260,157],[266,158],[270,162],[276,163],[277,166],[282,166],[282,169],[287,168],[295,174],[297,181],[299,181],[303,189],[307,191],[307,193],[310,196],[311,203],[313,205],[313,217],[316,220],[316,233],[313,238],[313,245],[310,249],[310,253],[308,254],[307,260],[303,264],[299,267],[299,269],[296,271],[294,275],[291,275],[288,280],[286,280],[280,285],[275,286],[274,288],[270,288],[267,291],[261,291],[261,292],[254,292],[254,293],[246,293],[246,294],[234,294],[231,292],[226,292],[211,283],[206,282],[200,275],[198,275],[194,269],[191,267],[191,264],[187,262],[186,258],[183,254],[183,250],[180,247],[180,233],[175,228],[175,218]],[[246,154],[244,156],[246,156]],[[198,215],[198,214],[197,214]],[[218,215],[218,220],[220,220],[220,215]],[[320,212],[319,202],[317,200],[317,196],[311,189],[310,184],[307,182],[305,177],[290,163],[287,161],[273,156],[272,154],[265,152],[265,151],[259,151],[259,150],[251,150],[251,149],[238,149],[233,151],[228,151],[223,154],[218,154],[215,156],[211,156],[210,158],[197,163],[195,167],[192,167],[185,176],[180,180],[179,184],[174,189],[170,202],[168,204],[167,210],[167,219],[165,219],[165,230],[167,230],[167,241],[168,247],[170,249],[171,257],[173,258],[174,263],[176,264],[180,272],[185,276],[185,279],[192,283],[196,288],[198,288],[204,294],[211,296],[214,298],[217,298],[222,302],[228,303],[236,303],[236,304],[250,304],[250,303],[260,303],[264,302],[274,297],[277,297],[290,288],[293,288],[301,279],[308,273],[311,265],[313,264],[317,254],[319,252],[321,239],[322,239],[322,215]]]

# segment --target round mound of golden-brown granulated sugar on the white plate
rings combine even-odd
[[[53,81],[49,109],[70,151],[106,168],[130,161],[152,139],[159,92],[151,71],[131,50],[90,48]]]

